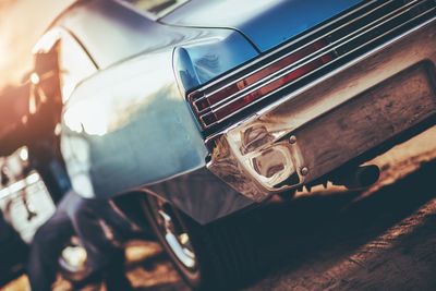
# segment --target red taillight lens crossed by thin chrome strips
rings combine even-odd
[[[190,95],[190,100],[193,102],[193,107],[196,113],[199,116],[202,124],[205,128],[208,128],[209,125],[241,110],[251,102],[261,99],[262,97],[275,92],[283,85],[295,81],[316,70],[317,68],[332,61],[335,59],[335,54],[332,52],[327,52],[315,60],[308,62],[305,61],[303,62],[304,64],[280,75],[281,70],[286,72],[286,70],[296,61],[318,51],[327,45],[328,44],[324,40],[315,41],[312,45],[292,52],[287,57],[254,72],[253,74],[228,86],[221,87],[220,89],[211,92],[210,94],[205,96],[201,94],[201,96],[197,96],[196,94],[198,93],[194,93]],[[258,86],[254,90],[237,97],[239,92],[252,85],[255,87],[256,83],[276,73],[278,74],[277,78],[272,78],[266,82],[266,84]]]

